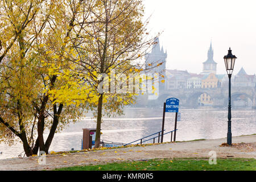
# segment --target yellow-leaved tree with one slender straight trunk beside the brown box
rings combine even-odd
[[[147,22],[142,21],[141,0],[97,0],[96,5],[88,16],[92,23],[82,28],[81,39],[73,41],[74,49],[65,55],[69,67],[59,72],[54,70],[59,65],[53,65],[49,73],[67,85],[48,93],[56,102],[90,106],[97,119],[95,147],[99,147],[102,114],[122,114],[123,106],[135,103],[137,93],[129,92],[126,82],[129,73],[143,71],[142,56],[154,39],[148,38]],[[105,92],[99,92],[102,82]]]

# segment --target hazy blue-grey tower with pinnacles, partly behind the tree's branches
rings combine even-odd
[[[150,53],[146,53],[145,68],[147,73],[159,74],[159,90],[166,88],[166,58],[167,52],[163,51],[163,46],[160,49],[159,38],[155,38],[155,45]],[[164,80],[164,82],[161,82]]]

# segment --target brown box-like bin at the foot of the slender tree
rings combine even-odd
[[[82,129],[82,150],[95,145],[96,129]]]

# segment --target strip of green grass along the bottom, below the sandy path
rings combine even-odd
[[[75,166],[57,171],[256,171],[256,159],[217,159],[210,165],[208,159],[151,159],[102,165]]]

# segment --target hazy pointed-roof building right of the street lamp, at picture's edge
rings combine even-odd
[[[249,86],[254,87],[256,84],[256,76],[247,75],[245,69],[241,68],[240,71],[234,76],[233,85],[234,86]]]

